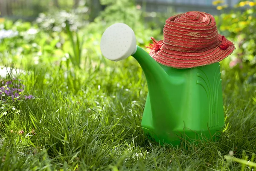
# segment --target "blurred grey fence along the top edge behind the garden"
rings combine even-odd
[[[102,7],[99,0],[0,0],[0,17],[11,18],[35,18],[40,12],[47,12],[51,8],[73,9],[81,2],[90,2],[94,13],[98,13]],[[145,6],[149,12],[186,12],[204,11],[211,14],[219,14],[220,11],[212,5],[215,0],[135,0],[137,4]],[[239,0],[223,0],[229,11]],[[96,8],[97,7],[97,8]],[[222,11],[223,12],[223,11]]]

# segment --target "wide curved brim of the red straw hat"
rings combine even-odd
[[[222,37],[220,34],[218,36],[219,38]],[[218,45],[214,48],[207,49],[204,52],[180,52],[168,50],[164,44],[158,52],[151,50],[149,54],[152,58],[154,58],[155,61],[169,67],[179,69],[193,68],[220,62],[224,58],[227,58],[233,52],[233,50],[236,49],[233,43],[231,44],[232,45],[225,50],[221,49]]]

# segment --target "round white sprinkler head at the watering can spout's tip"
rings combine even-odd
[[[124,23],[111,25],[102,35],[100,50],[111,61],[128,58],[137,51],[134,31]]]

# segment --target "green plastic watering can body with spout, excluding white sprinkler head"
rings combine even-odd
[[[218,134],[224,127],[220,64],[176,69],[151,63],[153,59],[144,53],[138,48],[133,56],[148,83],[141,123],[145,135],[160,144],[179,145],[184,136],[212,139]]]

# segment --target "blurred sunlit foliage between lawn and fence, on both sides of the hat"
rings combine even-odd
[[[83,68],[88,62],[97,61],[106,64],[110,61],[102,57],[99,44],[108,26],[117,22],[128,24],[136,34],[138,45],[144,48],[151,43],[151,36],[157,40],[163,39],[164,21],[172,15],[147,13],[134,0],[97,0],[104,10],[90,21],[90,7],[96,1],[83,0],[76,8],[71,8],[74,1],[68,4],[61,0],[58,2],[59,6],[70,8],[61,11],[50,9],[39,14],[32,23],[22,20],[0,23],[0,29],[18,32],[17,36],[4,38],[0,44],[0,58],[4,64],[11,62],[24,67],[65,63],[67,68],[70,65]],[[227,8],[221,3],[221,0],[213,2],[219,10]],[[235,78],[241,83],[246,81],[253,84],[256,81],[255,5],[254,1],[241,1],[229,14],[215,16],[219,32],[236,46],[233,54],[222,62],[223,77]],[[148,16],[154,17],[148,20]],[[128,66],[131,61],[128,58],[120,65]]]

